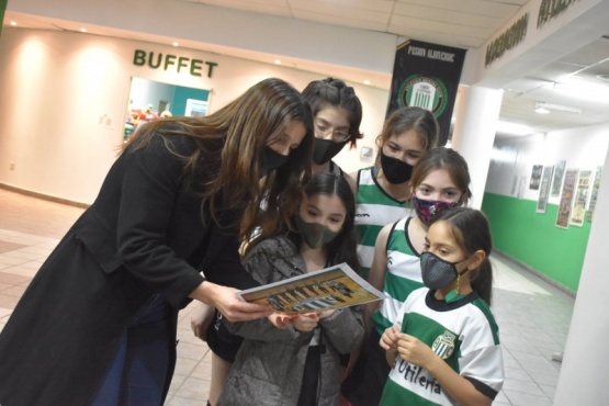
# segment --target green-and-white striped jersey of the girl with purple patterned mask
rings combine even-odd
[[[408,224],[413,217],[393,225],[387,238],[387,270],[383,291],[387,295],[377,312],[372,315],[374,328],[381,336],[397,322],[398,312],[408,295],[424,287],[420,258],[408,238]]]

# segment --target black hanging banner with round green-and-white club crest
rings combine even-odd
[[[465,49],[409,40],[395,53],[387,115],[416,105],[433,113],[440,123],[440,143],[447,144]]]

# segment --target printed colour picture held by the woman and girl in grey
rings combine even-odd
[[[246,302],[268,304],[285,314],[322,312],[385,298],[383,292],[345,262],[238,294]]]

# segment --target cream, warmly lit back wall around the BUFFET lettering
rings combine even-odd
[[[135,66],[135,49],[217,63],[213,77]],[[328,72],[331,75],[335,72]],[[323,76],[275,65],[157,44],[70,32],[4,29],[0,37],[0,183],[91,203],[123,136],[131,78],[210,89],[210,112],[268,77],[303,89]],[[363,104],[359,146],[374,145],[388,91],[349,83]],[[112,119],[110,127],[100,116]],[[369,162],[342,151],[347,171]],[[14,170],[10,165],[14,165]]]

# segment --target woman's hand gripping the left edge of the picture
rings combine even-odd
[[[268,305],[244,302],[237,292],[236,289],[204,281],[190,297],[215,306],[228,322],[248,322],[272,314]]]

